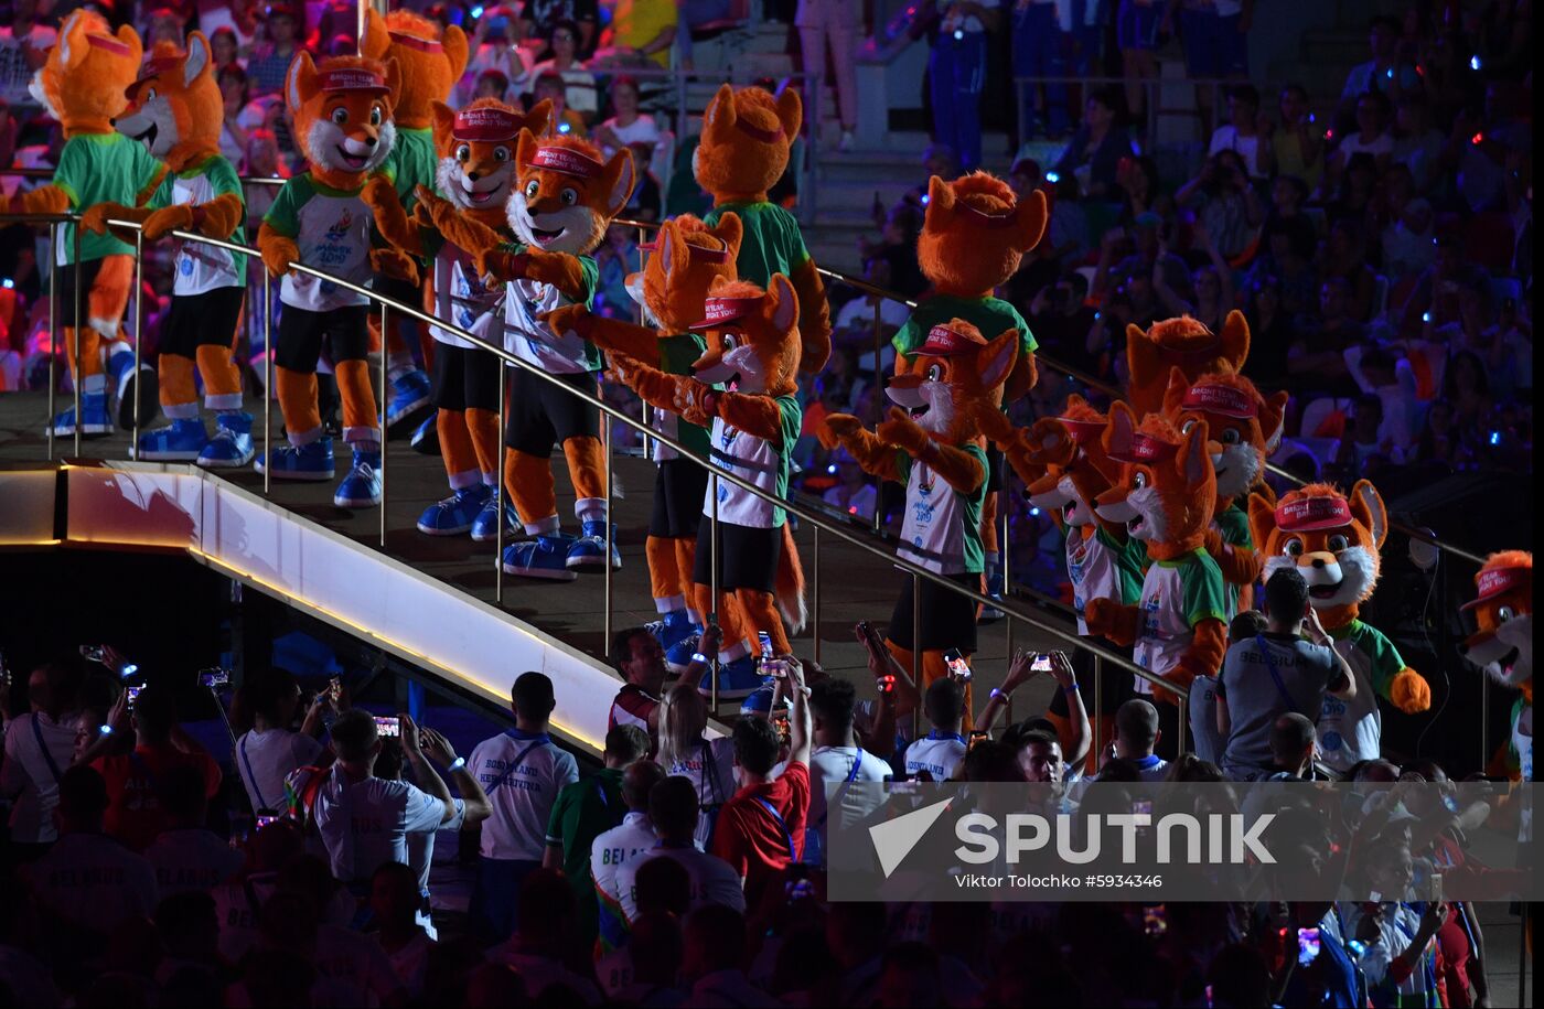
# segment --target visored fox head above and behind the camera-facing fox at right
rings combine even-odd
[[[1282,441],[1286,395],[1278,392],[1266,400],[1243,375],[1214,372],[1190,380],[1178,367],[1169,369],[1164,417],[1181,432],[1206,423],[1218,511],[1260,481],[1266,457]]]

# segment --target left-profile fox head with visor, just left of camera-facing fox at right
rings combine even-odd
[[[1122,466],[1095,503],[1099,515],[1124,521],[1126,532],[1143,540],[1153,560],[1200,549],[1217,503],[1209,438],[1206,421],[1181,432],[1149,413],[1138,426],[1129,406],[1112,404],[1102,444]]]

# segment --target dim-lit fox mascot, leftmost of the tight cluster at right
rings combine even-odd
[[[1104,452],[1102,437],[1109,418],[1089,406],[1082,397],[1067,397],[1061,417],[1045,417],[1021,432],[1019,441],[1007,447],[1008,463],[1024,480],[1030,504],[1045,509],[1067,534],[1067,577],[1072,582],[1072,605],[1078,611],[1078,633],[1089,636],[1084,609],[1092,599],[1113,599],[1122,606],[1135,606],[1143,592],[1143,568],[1147,549],[1141,540],[1126,535],[1126,525],[1110,521],[1093,509],[1099,495],[1121,477],[1121,463]],[[1075,657],[1076,662],[1076,657]],[[1110,737],[1115,710],[1130,694],[1129,674],[1116,671],[1121,688],[1101,691],[1102,710],[1090,717],[1101,722],[1099,737]],[[1068,745],[1072,737],[1067,694],[1051,694],[1047,716]],[[1090,767],[1099,754],[1090,753]]]

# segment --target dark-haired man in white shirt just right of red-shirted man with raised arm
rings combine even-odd
[[[855,707],[855,691],[846,680],[826,679],[809,688],[815,748],[809,753],[809,822],[803,861],[812,866],[826,864],[826,838],[832,827],[855,824],[883,798],[877,788],[852,785],[892,776],[888,761],[858,747],[852,728]],[[826,807],[826,785],[831,782],[840,782],[834,816]]]

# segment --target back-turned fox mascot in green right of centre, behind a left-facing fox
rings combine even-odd
[[[933,281],[933,293],[913,310],[896,333],[896,373],[909,367],[911,356],[928,339],[934,326],[965,319],[982,333],[1019,332],[1019,355],[1004,386],[1002,401],[1014,403],[1030,390],[1034,375],[1034,335],[1024,316],[993,292],[1019,270],[1024,253],[1039,245],[1045,235],[1045,194],[1033,193],[1019,201],[1007,182],[985,171],[945,182],[928,181],[928,208],[917,236],[917,261]],[[987,423],[987,421],[984,421]],[[1002,430],[985,430],[1004,440]],[[987,503],[982,509],[982,538],[987,552],[988,591],[1001,596],[1004,572],[997,543],[997,484],[1002,460],[991,452]]]

